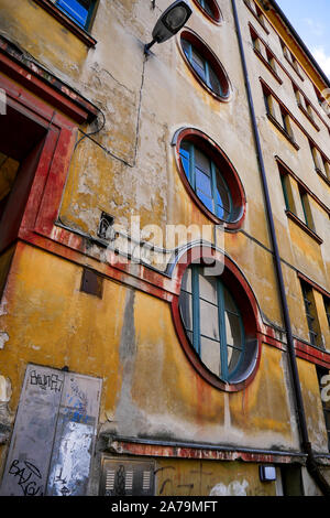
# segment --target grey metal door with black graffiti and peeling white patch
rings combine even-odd
[[[0,495],[85,495],[101,380],[29,365]]]

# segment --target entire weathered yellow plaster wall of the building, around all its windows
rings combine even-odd
[[[130,229],[132,215],[141,217],[141,227],[155,224],[163,231],[168,224],[210,224],[190,201],[170,145],[178,128],[198,128],[227,153],[246,194],[248,212],[242,231],[227,234],[226,251],[246,276],[264,322],[283,326],[230,2],[221,3],[224,21],[220,26],[210,24],[195,6],[188,23],[216,52],[229,74],[233,86],[230,102],[216,101],[196,82],[180,56],[177,39],[155,45],[153,55],[144,63],[143,44],[150,41],[160,12],[168,6],[165,0],[157,1],[153,11],[150,3],[101,0],[92,26],[98,44],[87,50],[32,0],[0,0],[0,32],[98,105],[106,117],[105,128],[92,136],[94,140],[84,139],[73,155],[61,219],[91,236],[97,234],[102,211],[113,215],[124,231]],[[309,144],[301,131],[293,125],[300,147],[297,152],[265,117],[261,75],[306,125],[296,106],[289,78],[280,74],[284,83],[278,86],[252,51],[248,21],[255,24],[255,19],[244,2],[239,3],[239,10],[246,51],[251,50],[246,52],[248,65],[255,91],[280,256],[286,261],[284,277],[289,311],[295,334],[308,341],[307,324],[301,319],[300,285],[294,268],[330,291],[330,250],[327,244],[316,245],[287,219],[274,155],[278,154],[328,206],[329,188],[314,174]],[[274,31],[263,37],[278,56],[282,55]],[[306,88],[310,97],[314,95],[315,100],[307,76],[301,88]],[[99,125],[101,122],[100,118]],[[89,130],[96,130],[96,126]],[[323,127],[319,134],[312,127],[309,131],[320,147],[329,148],[326,141],[329,134]],[[319,205],[312,203],[311,208],[317,230],[326,240],[329,218]],[[166,246],[157,237],[152,240]],[[184,245],[185,239],[179,244]],[[1,265],[8,263],[8,257],[1,258]],[[9,338],[0,352],[1,375],[12,384],[10,410],[13,414],[28,363],[55,368],[68,366],[73,371],[103,379],[100,409],[103,432],[299,449],[286,353],[263,345],[261,366],[253,384],[239,393],[221,392],[206,384],[189,364],[175,334],[167,303],[110,280],[105,280],[100,300],[81,293],[80,280],[81,268],[73,262],[26,245],[18,246],[4,293],[6,307],[0,314],[1,332]],[[324,341],[329,344],[328,336]],[[299,360],[299,373],[314,447],[326,451],[315,366]],[[2,447],[2,461],[6,451]],[[273,494],[275,490],[274,485],[261,488],[254,464],[241,468],[240,464],[217,463],[210,470],[206,462],[180,461],[178,464],[163,460],[160,465],[167,470],[174,465],[174,471],[169,470],[170,483],[165,484],[166,470],[158,475],[157,490],[161,493],[163,487],[164,495],[170,494],[173,487],[176,494],[183,494],[187,490],[185,484],[191,484],[191,479],[194,487],[199,487],[199,494],[208,494],[219,479],[228,487],[233,482],[231,472],[239,484],[246,486],[248,493]],[[200,471],[211,474],[201,478]]]

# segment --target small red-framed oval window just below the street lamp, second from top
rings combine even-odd
[[[191,31],[180,35],[185,60],[199,83],[215,97],[228,100],[231,88],[229,78],[212,51]]]

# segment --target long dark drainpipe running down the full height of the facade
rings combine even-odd
[[[308,455],[306,466],[310,476],[314,478],[314,481],[316,482],[320,490],[323,493],[323,495],[330,496],[330,486],[319,470],[319,466],[314,456],[314,453],[311,450],[311,443],[308,436],[306,413],[304,409],[301,387],[300,387],[299,374],[298,374],[298,367],[297,367],[297,360],[296,360],[293,328],[292,328],[292,323],[290,323],[290,317],[289,317],[288,303],[287,303],[285,284],[284,284],[284,279],[283,279],[283,271],[282,271],[282,262],[280,262],[280,256],[279,256],[279,250],[278,250],[278,244],[277,244],[277,237],[276,237],[276,230],[275,230],[274,217],[273,217],[273,211],[272,211],[272,204],[271,204],[271,197],[270,197],[270,190],[268,190],[266,171],[265,171],[265,163],[263,159],[263,152],[262,152],[260,133],[258,133],[258,128],[257,128],[257,122],[256,122],[255,110],[254,110],[254,102],[253,102],[253,97],[252,97],[251,84],[249,79],[245,52],[244,52],[244,46],[243,46],[243,40],[242,40],[242,33],[241,33],[235,0],[232,0],[232,9],[233,9],[235,29],[237,29],[238,40],[239,40],[243,73],[244,73],[245,87],[246,87],[251,120],[252,120],[252,126],[253,126],[254,141],[255,141],[256,152],[257,152],[257,161],[258,161],[260,173],[262,177],[262,185],[263,185],[265,203],[266,203],[266,213],[267,213],[271,239],[272,239],[272,245],[273,245],[275,269],[276,269],[278,289],[279,289],[285,331],[286,331],[286,336],[287,336],[287,348],[288,348],[288,354],[289,354],[289,365],[290,365],[292,381],[293,381],[293,388],[294,388],[294,395],[295,395],[295,401],[296,401],[296,410],[297,410],[297,417],[298,417],[298,427],[299,427],[299,432],[300,432],[301,447],[302,447],[302,451],[307,453]]]

